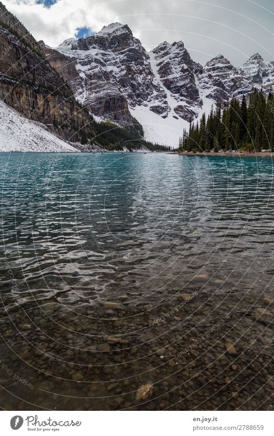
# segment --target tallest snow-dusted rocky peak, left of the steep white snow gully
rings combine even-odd
[[[127,127],[135,124],[130,108],[145,105],[157,113],[159,108],[167,111],[166,95],[155,79],[149,55],[127,25],[111,24],[93,36],[65,41],[55,51],[74,63],[78,77],[69,78],[70,86],[96,116]],[[54,64],[54,54],[47,51],[46,55]]]

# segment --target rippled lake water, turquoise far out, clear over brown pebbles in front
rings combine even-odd
[[[270,410],[271,159],[0,154],[0,177],[2,407]]]

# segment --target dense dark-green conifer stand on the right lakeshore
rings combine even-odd
[[[233,98],[229,103],[211,108],[206,119],[191,123],[189,132],[184,130],[179,150],[212,151],[274,149],[274,94],[267,96],[262,90],[253,89],[249,102]]]

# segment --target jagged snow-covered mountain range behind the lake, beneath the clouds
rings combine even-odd
[[[147,52],[120,23],[42,49],[76,99],[94,115],[140,132],[137,120],[145,139],[171,146],[212,104],[248,97],[252,86],[268,90],[274,83],[274,62],[267,64],[258,54],[240,68],[223,55],[202,67],[181,41],[163,42]]]

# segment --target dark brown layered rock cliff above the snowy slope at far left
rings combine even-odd
[[[64,139],[80,140],[83,126],[91,133],[90,116],[45,60],[40,45],[2,4],[0,7],[0,99]]]

